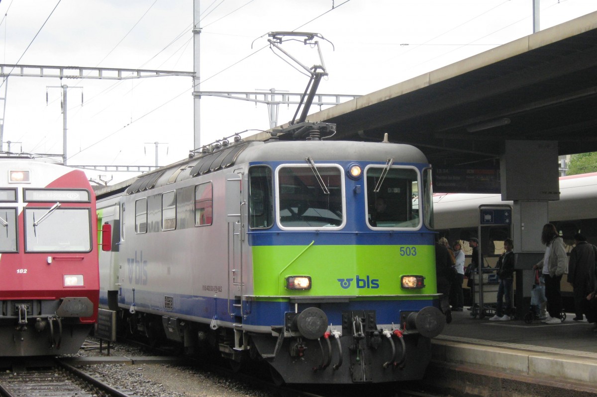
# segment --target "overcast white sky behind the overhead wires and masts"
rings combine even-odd
[[[324,36],[329,76],[318,92],[346,95],[368,94],[533,32],[532,0],[203,0],[201,11],[202,91],[303,92],[307,77],[264,48],[272,31]],[[541,0],[540,27],[593,11],[595,0]],[[192,0],[0,0],[0,13],[2,64],[193,71]],[[319,64],[316,50],[302,42],[283,47],[306,66]],[[155,165],[153,142],[160,142],[159,165],[167,165],[193,148],[190,77],[13,76],[0,88],[1,97],[8,88],[4,150],[11,141],[11,151],[62,153],[61,84],[69,86],[69,165]],[[280,106],[279,123],[295,110]],[[201,100],[202,144],[268,128],[263,104]],[[131,177],[88,173],[99,174]]]

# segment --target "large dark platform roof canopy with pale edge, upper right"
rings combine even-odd
[[[597,151],[597,12],[318,113],[334,139],[416,145],[433,165],[495,166],[510,139]]]

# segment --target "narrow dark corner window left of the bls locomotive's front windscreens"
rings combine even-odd
[[[273,220],[272,170],[266,166],[249,169],[249,227],[269,228]]]

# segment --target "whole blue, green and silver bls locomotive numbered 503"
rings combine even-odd
[[[420,379],[445,324],[430,166],[410,145],[318,138],[224,141],[100,194],[119,231],[101,305],[286,383]]]

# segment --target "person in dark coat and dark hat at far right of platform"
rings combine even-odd
[[[574,235],[574,240],[576,246],[570,252],[567,281],[572,284],[574,291],[574,312],[576,317],[572,320],[583,321],[583,313],[587,311],[586,296],[593,291],[593,286],[589,284],[592,279],[589,272],[595,270],[597,247],[587,243],[587,238],[580,233]]]

